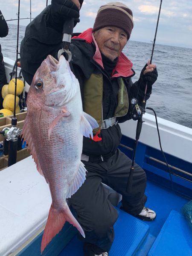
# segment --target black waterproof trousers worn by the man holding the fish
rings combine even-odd
[[[122,208],[131,215],[138,215],[147,200],[144,195],[146,175],[137,164],[134,166],[133,185],[126,192],[132,160],[119,149],[116,154],[99,163],[82,161],[87,178],[80,189],[69,199],[76,210],[78,221],[85,233],[84,255],[109,251],[114,239],[113,224],[118,217],[116,209],[107,198],[102,183],[122,195]]]

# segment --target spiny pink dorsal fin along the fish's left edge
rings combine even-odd
[[[32,154],[32,158],[34,159],[34,161],[36,163],[38,172],[44,177],[43,171],[41,169],[41,165],[38,160],[37,153],[35,151],[35,145],[33,143],[33,140],[32,140],[32,137],[31,137],[28,127],[29,127],[29,124],[28,124],[28,119],[26,117],[26,119],[24,121],[23,129],[22,129],[21,137],[23,138],[23,142],[26,141],[27,151],[29,150],[30,153]]]

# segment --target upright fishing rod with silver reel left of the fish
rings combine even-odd
[[[16,97],[17,97],[17,61],[18,61],[18,48],[19,48],[19,15],[20,15],[20,0],[18,0],[18,19],[17,19],[17,48],[16,48],[16,65],[15,65],[15,97],[14,97],[14,113],[12,116],[12,127],[4,128],[1,132],[5,137],[6,141],[9,142],[9,157],[8,157],[8,167],[15,164],[17,160],[17,143],[18,136],[21,130],[16,127],[17,117],[16,117]]]

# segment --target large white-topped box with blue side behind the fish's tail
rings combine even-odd
[[[0,171],[0,256],[41,255],[51,202],[49,186],[32,156]],[[42,256],[58,255],[76,232],[66,223]]]

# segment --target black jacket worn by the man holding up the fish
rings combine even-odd
[[[62,34],[49,26],[50,8],[49,6],[41,12],[27,27],[25,37],[21,42],[20,60],[24,79],[31,84],[32,78],[41,65],[41,62],[48,54],[57,58],[58,50],[62,48]],[[83,98],[84,81],[96,71],[103,75],[103,119],[113,117],[117,104],[118,84],[116,78],[109,78],[105,70],[94,60],[94,44],[87,44],[85,40],[74,39],[70,44],[72,52],[72,69],[76,78],[79,80],[81,96]],[[134,75],[134,71],[132,70]],[[132,75],[132,76],[133,76]],[[144,96],[145,84],[139,80],[135,83],[131,77],[122,77],[128,91],[129,102],[132,97],[142,101]],[[151,94],[151,87],[148,87],[147,97]],[[125,122],[130,119],[129,112],[123,117],[117,118],[118,122]],[[119,146],[122,134],[119,125],[113,125],[108,129],[102,129],[100,137],[102,140],[95,142],[84,137],[83,153],[86,155],[99,156],[104,158],[114,154]]]

